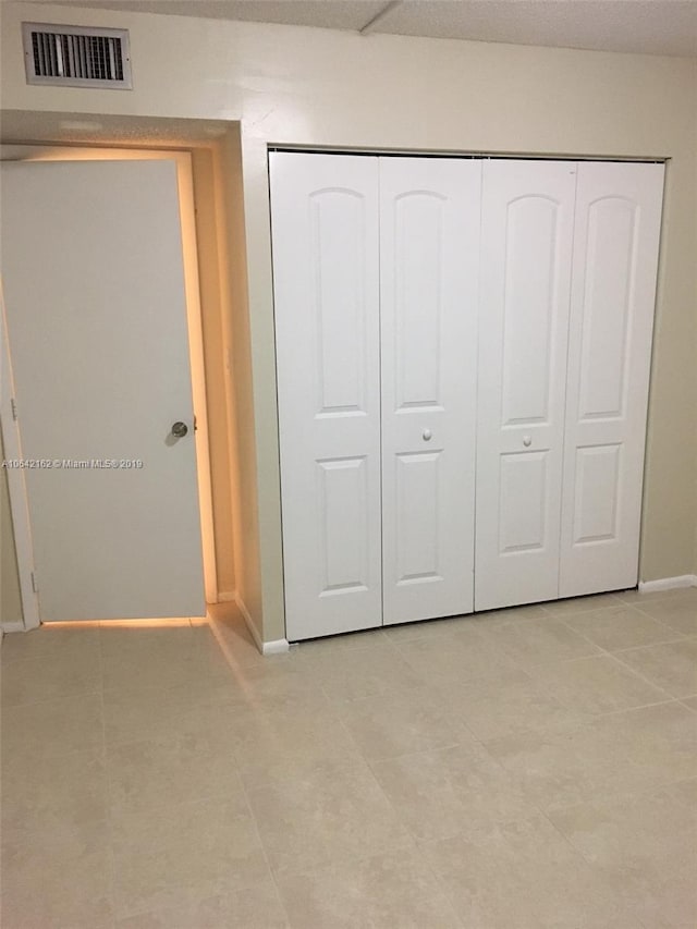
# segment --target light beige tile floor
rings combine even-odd
[[[4,929],[695,929],[697,589],[2,646]]]

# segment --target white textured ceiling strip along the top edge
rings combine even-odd
[[[36,0],[41,2],[41,0]],[[47,0],[42,0],[47,2]],[[59,5],[697,58],[697,0],[48,0]],[[387,8],[387,9],[386,9]]]

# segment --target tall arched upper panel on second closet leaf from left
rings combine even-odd
[[[398,410],[440,403],[443,209],[432,193],[394,204]]]

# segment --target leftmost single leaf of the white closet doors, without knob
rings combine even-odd
[[[378,160],[270,156],[286,634],[381,624]]]

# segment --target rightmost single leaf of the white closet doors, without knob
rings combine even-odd
[[[637,582],[662,164],[578,166],[560,596]]]

